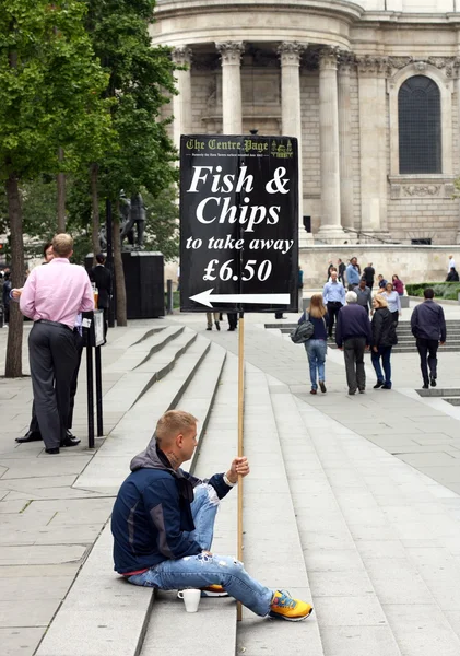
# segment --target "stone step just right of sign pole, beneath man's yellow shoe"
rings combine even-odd
[[[249,364],[245,382],[245,454],[251,466],[244,485],[245,566],[268,587],[286,589],[308,601],[308,574],[267,376]],[[323,656],[316,612],[293,625],[283,621],[268,623],[244,609],[237,646],[238,654],[251,656]]]

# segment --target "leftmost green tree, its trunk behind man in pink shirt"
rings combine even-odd
[[[85,11],[79,0],[0,0],[0,179],[14,286],[24,283],[20,183],[71,171],[83,144],[96,154],[110,132],[102,97],[107,81],[84,30]],[[5,376],[22,375],[21,352],[22,316],[14,304]]]

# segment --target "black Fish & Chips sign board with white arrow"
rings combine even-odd
[[[297,140],[182,136],[180,308],[297,312]]]

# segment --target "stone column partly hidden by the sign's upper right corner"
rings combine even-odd
[[[302,109],[300,109],[300,55],[306,44],[284,42],[279,48],[281,61],[281,132],[286,137],[296,137],[298,142],[298,236],[299,246],[305,246],[311,236],[305,232],[304,179],[302,150]]]

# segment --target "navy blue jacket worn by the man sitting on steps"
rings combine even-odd
[[[154,447],[156,450],[156,444]],[[111,515],[115,571],[119,574],[146,570],[167,559],[198,555],[203,550],[187,535],[194,530],[192,489],[202,481],[165,467],[156,454],[149,461],[149,448],[141,456],[132,461],[134,471],[122,483]],[[220,499],[232,490],[223,473],[214,475],[208,483]]]

